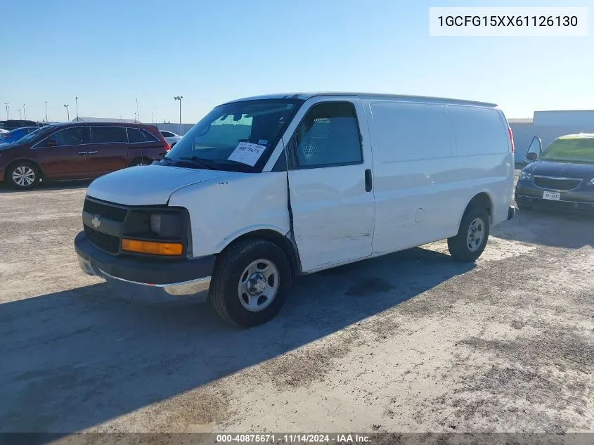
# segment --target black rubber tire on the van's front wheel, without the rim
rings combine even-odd
[[[259,311],[250,311],[240,302],[240,280],[250,264],[264,259],[278,271],[276,297]],[[243,276],[242,276],[243,275]],[[266,240],[245,240],[231,245],[217,259],[209,292],[209,302],[214,311],[228,323],[250,328],[266,323],[278,314],[287,299],[291,285],[291,266],[285,252]],[[249,299],[245,293],[243,294]],[[261,296],[262,297],[262,296]],[[259,298],[257,301],[259,301]],[[245,299],[244,299],[245,301]]]

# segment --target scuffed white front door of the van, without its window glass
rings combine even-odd
[[[308,101],[310,106],[299,110],[300,115],[327,100]],[[348,101],[355,105],[361,122],[364,117],[361,101]],[[296,117],[296,120],[301,119]],[[371,146],[365,136],[363,160],[358,165],[289,172],[293,227],[303,271],[370,256],[375,199],[372,192],[365,191],[365,170],[373,168]]]

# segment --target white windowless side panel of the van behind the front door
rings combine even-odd
[[[373,146],[375,254],[456,235],[477,193],[491,198],[495,222],[505,220],[513,162],[498,109],[390,100],[364,106]]]

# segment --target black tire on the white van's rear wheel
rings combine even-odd
[[[478,224],[482,232],[482,240],[480,242],[477,241],[478,244],[474,244],[474,240],[468,243],[467,236],[470,231],[470,225],[473,223],[476,224],[476,220],[479,220]],[[474,226],[474,228],[478,228],[478,226]],[[476,233],[473,235],[476,235]],[[452,258],[456,261],[472,263],[481,256],[486,247],[487,240],[489,240],[489,214],[487,214],[485,209],[470,207],[462,217],[458,235],[448,238],[448,250]]]

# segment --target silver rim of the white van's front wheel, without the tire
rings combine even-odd
[[[238,296],[241,305],[250,312],[269,307],[278,293],[280,275],[267,259],[257,259],[247,266],[239,279]]]

